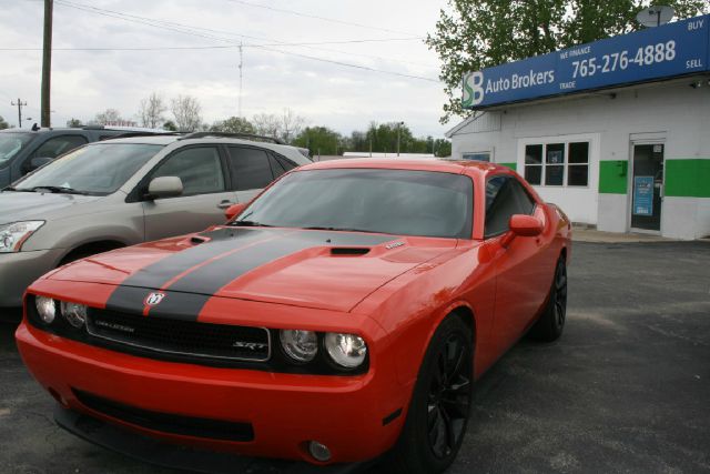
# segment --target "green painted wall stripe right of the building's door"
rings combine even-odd
[[[710,198],[710,159],[666,160],[666,195]]]

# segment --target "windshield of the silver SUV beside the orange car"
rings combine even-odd
[[[141,143],[81,147],[19,181],[14,190],[111,194],[162,148]]]

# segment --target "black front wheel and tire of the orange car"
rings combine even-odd
[[[389,455],[389,472],[435,474],[452,465],[470,413],[473,354],[470,329],[449,315],[434,333],[419,367],[407,418]]]

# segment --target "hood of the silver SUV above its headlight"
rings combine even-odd
[[[49,214],[72,205],[92,202],[101,196],[40,192],[0,192],[0,224],[47,220]]]

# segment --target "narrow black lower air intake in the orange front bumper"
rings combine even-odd
[[[172,413],[152,412],[77,389],[73,389],[73,393],[81,404],[94,412],[149,430],[184,436],[207,437],[211,440],[254,441],[254,428],[251,423],[235,423],[223,420],[197,418]]]

